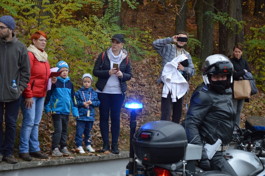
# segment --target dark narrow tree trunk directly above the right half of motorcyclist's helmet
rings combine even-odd
[[[228,0],[219,1],[219,8],[222,12],[228,12]],[[225,55],[225,44],[226,44],[226,36],[227,34],[227,28],[225,24],[223,25],[221,22],[219,22],[219,53]]]

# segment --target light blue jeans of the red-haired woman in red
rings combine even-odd
[[[32,97],[32,108],[25,108],[23,104],[25,97],[21,99],[21,111],[23,115],[22,127],[20,130],[19,153],[40,151],[39,124],[43,112],[44,97]]]

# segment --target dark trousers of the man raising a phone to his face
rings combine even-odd
[[[177,99],[176,102],[172,102],[170,92],[166,98],[161,97],[161,120],[170,121],[171,111],[173,111],[172,122],[179,124],[182,117],[184,99],[185,95]]]

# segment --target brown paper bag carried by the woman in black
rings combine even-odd
[[[251,86],[249,80],[234,81],[235,99],[245,99],[250,97]]]

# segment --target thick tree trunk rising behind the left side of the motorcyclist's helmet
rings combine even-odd
[[[205,4],[203,5],[203,38],[202,38],[202,53],[201,53],[201,64],[204,63],[205,59],[208,56],[212,55],[212,42],[213,42],[213,16],[205,15],[205,12],[214,11],[214,0],[204,0]]]

